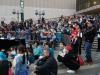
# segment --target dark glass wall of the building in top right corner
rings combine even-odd
[[[100,4],[100,0],[76,0],[76,10],[86,9]]]

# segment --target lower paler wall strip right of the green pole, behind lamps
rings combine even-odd
[[[27,11],[28,9],[28,11]],[[56,17],[60,17],[61,15],[72,15],[73,13],[75,13],[74,9],[55,9],[55,8],[32,8],[32,7],[26,7],[25,8],[25,19],[33,17],[33,18],[37,18],[37,16],[35,15],[35,10],[44,10],[45,11],[45,18],[56,18]]]

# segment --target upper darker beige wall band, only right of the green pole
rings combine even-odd
[[[25,6],[41,8],[75,9],[76,0],[24,0]]]

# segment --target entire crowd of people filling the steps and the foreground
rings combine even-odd
[[[98,17],[84,15],[61,16],[59,20],[49,21],[42,18],[37,23],[32,19],[10,24],[2,21],[0,39],[25,39],[26,45],[0,49],[0,74],[29,75],[29,66],[35,64],[34,73],[37,75],[57,75],[57,61],[69,68],[68,73],[75,73],[81,66],[82,40],[85,62],[93,63],[91,48],[99,23]],[[55,50],[59,51],[57,60]]]

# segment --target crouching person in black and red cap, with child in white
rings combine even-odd
[[[58,61],[62,62],[66,67],[68,67],[70,70],[68,70],[68,73],[75,73],[80,68],[79,61],[77,60],[77,56],[72,54],[72,48],[71,46],[67,46],[61,42],[60,48],[63,50],[62,52],[59,52],[59,55],[57,57]]]

